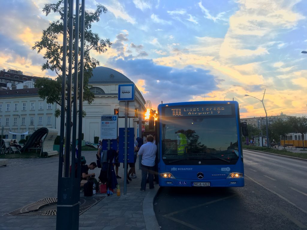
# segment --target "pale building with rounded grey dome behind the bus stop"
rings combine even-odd
[[[134,84],[122,73],[107,67],[96,67],[93,70],[93,76],[89,79],[91,91],[95,94],[95,100],[89,105],[83,104],[83,110],[86,117],[83,119],[82,132],[85,141],[93,141],[94,136],[100,136],[101,115],[114,115],[117,109],[120,109],[118,100],[118,86],[120,84]],[[146,111],[145,100],[134,85],[135,109],[139,110],[138,117],[128,118],[128,128],[134,128],[134,135],[137,137],[142,129],[138,126],[142,122],[142,113]],[[125,118],[119,118],[119,128],[125,127]]]

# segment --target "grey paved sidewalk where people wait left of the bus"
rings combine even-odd
[[[87,164],[96,161],[96,151],[84,151]],[[137,178],[127,184],[124,195],[124,176],[122,163],[118,179],[121,195],[104,196],[95,206],[80,215],[79,229],[121,229],[121,230],[156,230],[159,229],[153,211],[153,198],[159,186],[140,191],[141,170],[136,163]],[[95,172],[96,178],[100,169]],[[4,216],[5,214],[29,205],[45,197],[57,197],[58,157],[36,159],[9,159],[6,167],[0,166],[2,185],[0,186],[0,229],[32,230],[56,229],[56,216]],[[80,193],[83,197],[83,192]],[[95,228],[93,228],[95,227]]]

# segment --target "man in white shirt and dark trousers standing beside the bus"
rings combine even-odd
[[[153,173],[157,152],[157,145],[153,144],[153,136],[148,135],[146,137],[147,143],[143,144],[138,151],[138,155],[142,155],[142,182],[141,182],[141,191],[146,190],[146,180],[148,174],[149,188],[153,189]]]

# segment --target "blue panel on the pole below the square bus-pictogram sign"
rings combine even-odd
[[[134,128],[127,128],[127,162],[134,163]],[[125,128],[119,128],[119,162],[124,163]]]

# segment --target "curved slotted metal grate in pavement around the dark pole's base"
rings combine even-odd
[[[101,197],[81,197],[79,215],[91,208],[104,196]],[[5,214],[5,216],[56,216],[56,197],[47,197],[22,208],[16,209],[13,212]]]

